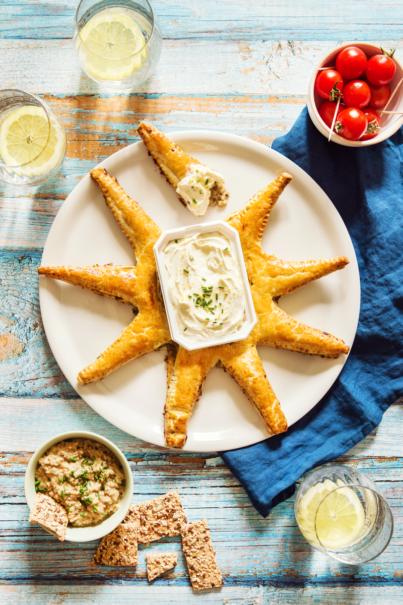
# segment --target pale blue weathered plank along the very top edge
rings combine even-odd
[[[69,38],[77,3],[33,0],[0,5],[0,34],[4,38]],[[205,0],[192,5],[187,0],[155,0],[153,7],[164,38],[228,38],[240,32],[269,39],[348,38],[382,39],[384,31],[401,38],[401,2],[340,0],[305,2],[292,0]],[[13,15],[16,19],[10,19]]]

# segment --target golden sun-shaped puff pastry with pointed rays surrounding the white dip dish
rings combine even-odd
[[[287,430],[287,422],[274,394],[256,345],[268,344],[300,353],[336,358],[347,353],[343,341],[286,315],[277,301],[312,280],[343,269],[346,257],[331,260],[280,260],[263,252],[261,240],[271,209],[291,180],[282,174],[245,206],[227,217],[240,235],[250,280],[257,324],[247,339],[232,344],[187,351],[171,341],[162,296],[159,292],[153,244],[160,228],[103,168],[91,171],[106,203],[134,249],[135,267],[40,267],[40,275],[127,302],[138,309],[134,321],[94,363],[80,371],[80,384],[98,381],[123,364],[156,348],[168,348],[168,391],[165,404],[166,444],[182,448],[193,406],[198,401],[207,372],[221,365],[236,380],[265,421],[269,434]]]

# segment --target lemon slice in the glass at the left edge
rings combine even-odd
[[[49,122],[42,108],[23,105],[11,111],[0,125],[2,160],[19,166],[16,174],[44,174],[60,163],[65,151],[63,127],[51,123],[49,140],[48,134]]]

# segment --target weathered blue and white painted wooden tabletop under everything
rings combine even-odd
[[[269,145],[305,105],[317,60],[341,41],[397,47],[403,1],[158,0],[164,50],[152,78],[111,94],[80,70],[71,46],[77,0],[0,2],[1,88],[42,96],[62,117],[62,172],[38,189],[0,182],[0,600],[7,603],[386,604],[403,602],[401,402],[345,454],[381,485],[395,516],[387,551],[349,567],[314,551],[294,520],[292,499],[263,519],[215,453],[172,453],[98,416],[66,382],[47,343],[36,267],[66,195],[95,163],[137,140],[141,119],[163,131],[214,129]],[[91,565],[96,543],[57,543],[28,523],[23,483],[31,454],[48,437],[86,429],[129,460],[135,501],[178,488],[189,520],[205,517],[224,576],[221,590],[193,592],[178,538],[178,566],[147,583],[137,568]]]

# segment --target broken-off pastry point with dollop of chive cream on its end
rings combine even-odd
[[[149,122],[141,122],[137,132],[149,155],[159,166],[161,174],[173,186],[185,208],[189,208],[195,217],[202,217],[209,205],[227,204],[229,194],[222,174],[187,155]]]

